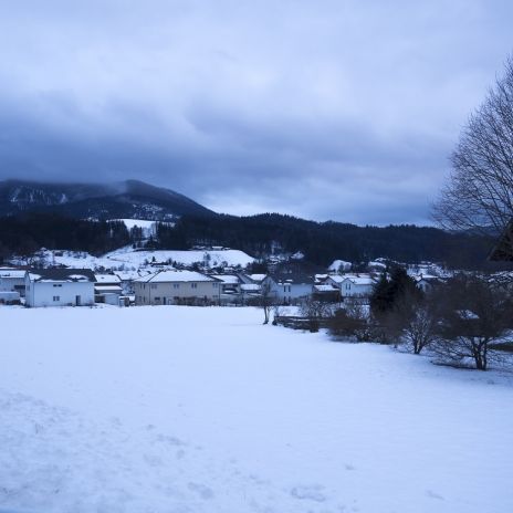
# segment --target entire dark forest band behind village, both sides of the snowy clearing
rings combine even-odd
[[[184,216],[175,226],[158,224],[157,237],[140,241],[140,230],[118,221],[87,221],[56,213],[25,213],[0,218],[0,254],[30,254],[41,247],[102,254],[126,244],[158,249],[223,245],[258,258],[301,251],[323,266],[335,259],[363,262],[385,256],[401,262],[446,262],[456,268],[480,268],[492,240],[415,226],[357,227],[314,222],[265,213],[253,217]]]

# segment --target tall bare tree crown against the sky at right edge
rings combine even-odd
[[[446,229],[505,232],[513,219],[513,55],[470,116],[451,164],[435,219]],[[502,244],[513,258],[513,230],[506,232]]]

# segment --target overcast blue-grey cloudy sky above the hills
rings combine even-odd
[[[511,0],[0,1],[0,178],[427,223],[512,20]]]

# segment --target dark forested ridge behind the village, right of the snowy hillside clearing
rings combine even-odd
[[[174,226],[159,224],[156,247],[188,249],[223,245],[264,258],[301,251],[305,260],[327,266],[335,259],[368,262],[385,256],[400,262],[438,261],[451,268],[481,269],[493,239],[416,226],[357,227],[314,222],[278,213],[251,217],[185,216]]]

